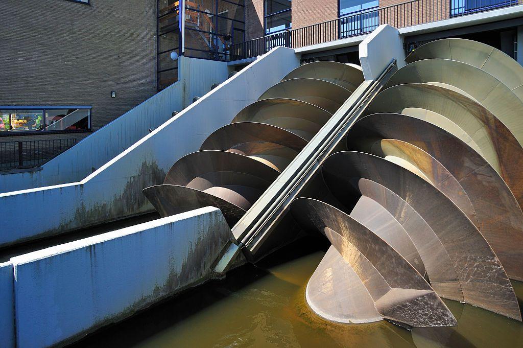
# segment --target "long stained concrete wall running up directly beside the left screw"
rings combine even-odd
[[[0,207],[16,207],[2,221],[0,246],[152,211],[142,189],[163,183],[178,159],[298,65],[292,49],[272,49],[81,182],[0,194]]]

